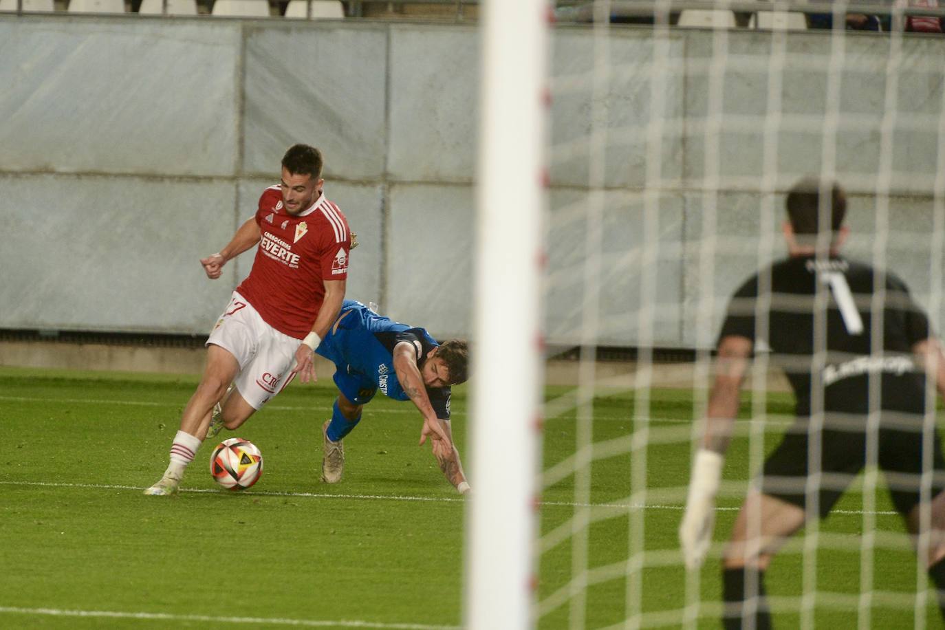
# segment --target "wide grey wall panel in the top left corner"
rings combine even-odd
[[[239,26],[0,21],[0,169],[231,175]]]

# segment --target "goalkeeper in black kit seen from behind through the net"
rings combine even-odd
[[[899,278],[839,255],[848,235],[839,185],[803,179],[786,205],[788,258],[735,292],[719,334],[705,433],[679,526],[686,564],[696,569],[708,552],[739,390],[752,354],[769,352],[791,383],[797,418],[750,485],[723,552],[724,626],[771,627],[765,570],[772,557],[807,519],[830,513],[872,448],[945,606],[945,461],[934,422],[923,435],[925,415],[935,414],[926,383],[945,395],[942,348]],[[935,472],[926,495],[931,531],[919,537],[919,482],[928,470]]]

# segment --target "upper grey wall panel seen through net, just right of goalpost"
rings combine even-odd
[[[655,43],[658,42],[658,43]],[[550,173],[555,184],[641,187],[647,173],[678,181],[683,164],[684,40],[640,31],[610,38],[600,60],[584,31],[561,30],[551,60]],[[595,60],[604,65],[595,72]],[[651,72],[652,67],[657,72]],[[657,89],[654,90],[654,87]],[[651,125],[662,126],[657,143]],[[659,171],[650,156],[660,156]],[[599,184],[598,184],[599,185]]]

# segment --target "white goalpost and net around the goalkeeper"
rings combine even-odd
[[[786,192],[814,175],[847,191],[842,252],[894,271],[942,331],[945,38],[905,30],[918,30],[903,25],[923,9],[900,6],[559,2],[558,24],[542,30],[534,22],[549,4],[483,5],[480,226],[498,220],[506,233],[478,233],[472,474],[490,481],[474,488],[466,621],[490,627],[482,610],[519,605],[502,627],[718,627],[725,541],[794,420],[784,370],[758,352],[713,544],[687,571],[677,530],[730,296],[787,255]],[[490,75],[490,59],[524,75]],[[540,122],[490,128],[502,104],[522,103],[531,113],[519,111],[519,125]],[[529,142],[538,154],[520,152]],[[506,198],[540,211],[489,208]],[[535,317],[513,328],[510,313]],[[533,374],[539,329],[547,361]],[[926,452],[940,422],[932,385]],[[941,626],[925,558],[868,451],[831,516],[809,520],[766,571],[776,626]],[[921,482],[919,538],[930,466]]]

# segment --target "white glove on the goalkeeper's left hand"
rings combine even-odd
[[[699,449],[693,463],[692,479],[689,482],[689,497],[686,512],[679,523],[679,545],[686,568],[698,569],[702,565],[715,524],[715,494],[722,477],[724,457],[715,451]]]

